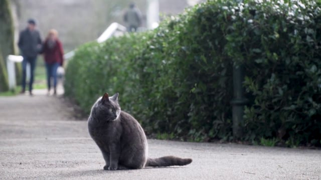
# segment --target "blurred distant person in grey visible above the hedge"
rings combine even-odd
[[[127,30],[129,32],[136,31],[137,28],[141,25],[141,12],[136,8],[134,3],[129,4],[129,8],[124,14],[124,21],[127,24]]]

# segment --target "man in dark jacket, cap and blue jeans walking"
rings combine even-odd
[[[32,85],[34,82],[34,71],[36,67],[37,55],[41,50],[41,37],[39,31],[36,29],[36,21],[34,19],[28,20],[28,26],[22,30],[19,35],[18,46],[21,50],[24,60],[22,61],[22,91],[25,93],[26,90],[26,68],[27,63],[30,64],[30,81],[29,81],[29,93],[32,94]]]

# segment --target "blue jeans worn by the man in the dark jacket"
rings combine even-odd
[[[36,68],[36,57],[27,57],[24,56],[24,60],[22,61],[22,90],[26,90],[26,71],[27,71],[27,63],[30,64],[30,80],[29,80],[29,91],[32,91],[32,85],[34,83],[34,72]]]

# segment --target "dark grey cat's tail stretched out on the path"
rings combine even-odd
[[[176,156],[164,156],[158,158],[149,158],[147,159],[145,167],[162,167],[162,166],[171,166],[171,165],[187,165],[193,160],[191,158],[181,158]]]

